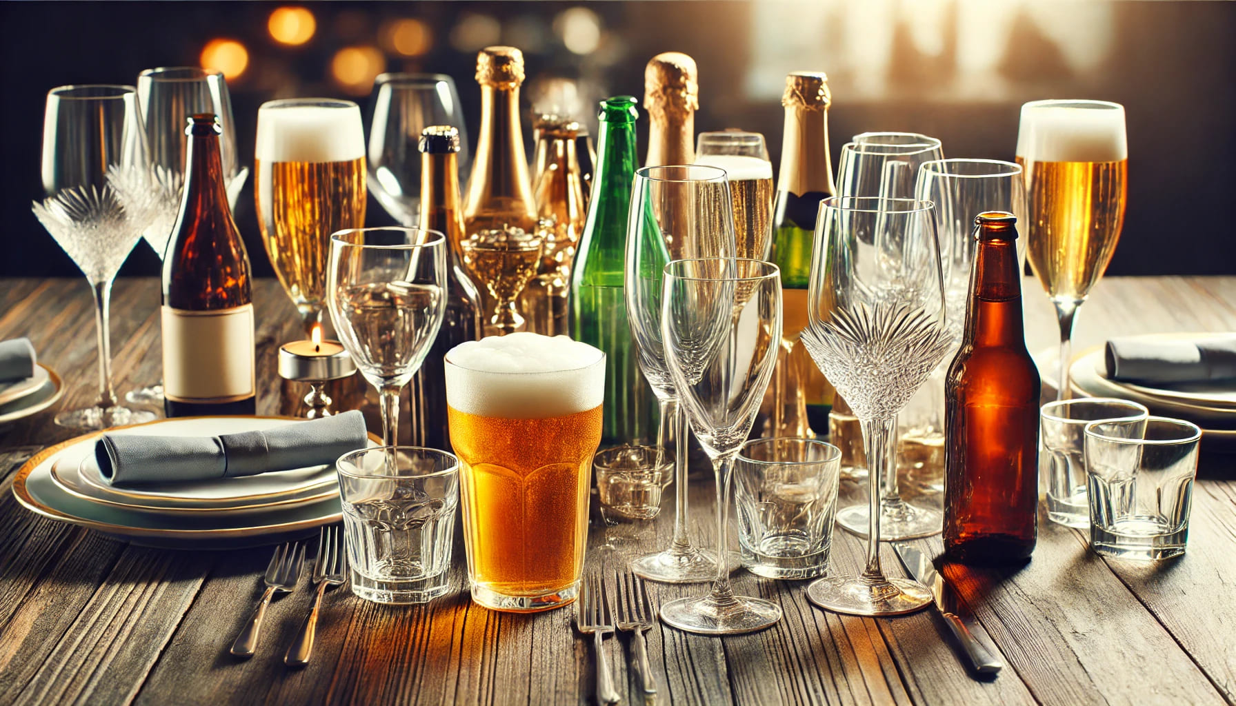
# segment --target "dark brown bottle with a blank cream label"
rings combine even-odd
[[[227,205],[221,134],[214,115],[189,117],[184,194],[163,258],[168,417],[256,412],[248,253]]]

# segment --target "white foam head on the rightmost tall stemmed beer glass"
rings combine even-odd
[[[1119,103],[1036,100],[1021,106],[1017,156],[1033,162],[1119,162],[1128,158]]]

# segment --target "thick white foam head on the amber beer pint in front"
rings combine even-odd
[[[446,351],[446,403],[467,414],[541,419],[586,412],[606,396],[606,355],[566,336],[520,331]]]

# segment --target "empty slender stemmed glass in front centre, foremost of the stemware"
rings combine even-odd
[[[734,457],[751,433],[781,345],[781,271],[763,260],[679,260],[665,266],[665,359],[687,418],[717,477],[717,577],[707,596],[661,605],[682,631],[733,634],[766,628],[781,608],[735,596],[726,545]]]

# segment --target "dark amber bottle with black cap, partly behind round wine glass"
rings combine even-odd
[[[420,228],[436,230],[449,245],[446,315],[434,345],[412,378],[412,443],[451,449],[446,424],[446,351],[476,340],[481,330],[480,291],[464,270],[464,210],[460,206],[460,132],[449,125],[420,132]]]

